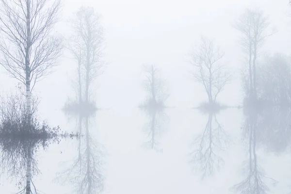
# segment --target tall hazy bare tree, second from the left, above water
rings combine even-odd
[[[104,30],[100,21],[101,16],[93,8],[81,7],[70,22],[73,35],[68,40],[68,49],[78,63],[79,102],[89,102],[90,86],[106,65],[101,61]]]

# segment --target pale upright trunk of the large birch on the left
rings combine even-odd
[[[26,49],[25,49],[25,85],[26,85],[26,108],[29,120],[31,119],[31,66],[30,66],[30,55],[31,55],[31,0],[26,2]]]

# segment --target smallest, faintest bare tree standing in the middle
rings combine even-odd
[[[147,105],[164,105],[165,100],[169,97],[165,87],[165,81],[161,78],[160,69],[155,65],[144,65],[146,80],[144,88],[148,94]]]

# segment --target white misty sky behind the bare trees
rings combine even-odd
[[[95,99],[98,107],[134,107],[144,98],[143,64],[156,64],[167,80],[170,97],[167,105],[188,107],[206,100],[203,88],[190,79],[193,67],[187,62],[199,35],[214,38],[225,51],[223,63],[237,78],[218,97],[221,103],[241,103],[239,72],[243,55],[238,45],[239,32],[231,27],[235,17],[247,6],[259,6],[269,16],[270,30],[264,50],[289,54],[291,50],[291,8],[288,0],[63,0],[62,19],[56,31],[70,34],[67,19],[81,5],[93,6],[103,17],[105,61],[108,67],[97,79]],[[64,51],[55,72],[36,84],[41,97],[41,113],[60,109],[67,97],[74,97],[70,80],[75,78],[76,63]],[[16,84],[0,68],[3,91]],[[3,92],[2,91],[2,92]]]

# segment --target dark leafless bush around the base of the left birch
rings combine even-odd
[[[78,136],[78,134],[61,133],[58,127],[50,128],[36,117],[39,101],[32,97],[32,114],[28,115],[25,96],[16,93],[1,97],[0,102],[0,137],[13,139],[39,139],[42,141],[56,138]]]

